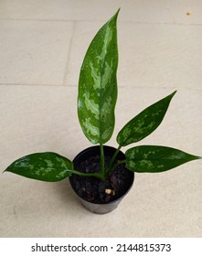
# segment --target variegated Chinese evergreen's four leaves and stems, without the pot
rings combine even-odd
[[[123,146],[143,140],[162,123],[170,101],[175,95],[176,91],[174,91],[140,112],[122,127],[116,138],[118,147],[112,156],[111,163],[108,166],[104,165],[103,144],[112,137],[115,123],[118,14],[119,10],[92,39],[80,69],[78,96],[80,126],[90,143],[100,144],[100,173],[80,173],[79,170],[74,169],[73,163],[68,158],[53,152],[23,156],[9,165],[5,171],[52,182],[72,174],[95,176],[105,180],[112,170],[122,163],[125,163],[126,167],[133,172],[155,173],[202,158],[171,147],[139,145],[126,151],[125,160],[116,160],[116,155]]]

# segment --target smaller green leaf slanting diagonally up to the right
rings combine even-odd
[[[133,144],[153,133],[159,124],[162,123],[175,92],[155,102],[143,112],[133,117],[129,123],[126,123],[117,135],[117,143],[121,146]]]

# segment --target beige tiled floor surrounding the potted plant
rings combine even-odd
[[[0,170],[53,151],[72,159],[90,146],[76,99],[90,40],[118,7],[116,128],[177,90],[162,125],[140,144],[202,155],[202,1],[1,0]],[[187,13],[190,15],[186,15]],[[109,144],[116,145],[115,136]],[[68,180],[0,175],[0,237],[201,237],[202,162],[137,174],[114,212],[80,206]]]

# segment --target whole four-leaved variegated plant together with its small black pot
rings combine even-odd
[[[117,148],[105,145],[114,130],[118,66],[117,13],[92,39],[80,69],[78,116],[83,133],[92,144],[70,161],[53,152],[23,156],[5,171],[42,181],[69,177],[82,204],[96,213],[116,208],[133,185],[134,173],[156,173],[201,159],[181,150],[159,145],[137,145],[125,154],[121,148],[143,140],[165,117],[172,92],[126,123],[118,133]]]

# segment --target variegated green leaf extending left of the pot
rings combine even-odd
[[[9,165],[5,172],[42,181],[59,181],[71,176],[72,162],[52,152],[26,155]]]

